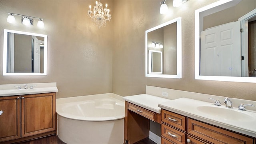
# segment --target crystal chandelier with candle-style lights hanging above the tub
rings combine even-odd
[[[96,5],[93,7],[93,10],[91,10],[92,6],[89,6],[88,15],[92,18],[94,24],[100,28],[106,26],[106,21],[110,21],[111,14],[109,14],[109,9],[107,8],[108,4],[103,9],[101,2],[96,1],[95,3]]]

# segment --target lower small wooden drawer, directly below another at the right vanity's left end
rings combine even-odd
[[[175,144],[185,144],[186,133],[176,130],[164,123],[161,124],[161,135]]]

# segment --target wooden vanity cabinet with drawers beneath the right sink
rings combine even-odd
[[[162,109],[161,144],[255,144],[256,138]]]

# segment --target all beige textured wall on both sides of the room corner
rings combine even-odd
[[[0,84],[57,82],[57,98],[143,94],[145,85],[150,85],[256,100],[255,83],[194,80],[194,10],[216,1],[188,0],[173,8],[167,0],[172,12],[161,15],[158,0],[110,0],[111,22],[98,29],[87,16],[94,0],[0,0],[1,57],[3,29],[48,35],[47,76],[2,76],[1,58]],[[44,18],[45,28],[9,24],[7,12]],[[145,30],[178,16],[182,17],[182,79],[146,78]]]

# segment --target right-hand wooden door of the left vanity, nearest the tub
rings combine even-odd
[[[22,137],[56,130],[55,93],[21,97]]]

